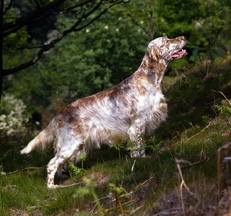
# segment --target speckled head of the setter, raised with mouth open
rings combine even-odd
[[[174,39],[160,37],[151,41],[147,48],[149,58],[158,61],[160,59],[170,62],[174,59],[183,58],[187,55],[186,50],[182,49],[186,44],[184,36]]]

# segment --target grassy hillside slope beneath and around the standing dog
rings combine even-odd
[[[87,157],[84,171],[75,176],[73,170],[72,177],[62,182],[62,185],[79,184],[48,190],[45,165],[52,157],[51,150],[21,156],[19,150],[27,140],[3,143],[1,215],[89,215],[100,211],[105,215],[121,212],[181,215],[183,210],[186,215],[222,215],[227,212],[229,203],[218,199],[216,154],[231,138],[231,113],[224,108],[230,104],[226,103],[222,112],[212,106],[224,99],[217,91],[231,98],[230,62],[222,67],[214,64],[209,71],[204,68],[208,69],[203,65],[193,68],[168,88],[169,119],[147,140],[150,155],[136,159],[133,172],[134,159],[126,158],[123,149],[118,152],[103,148]],[[179,165],[190,192],[184,185],[180,189],[176,158],[184,160]],[[113,185],[108,186],[109,183]],[[94,194],[100,199],[98,207]]]

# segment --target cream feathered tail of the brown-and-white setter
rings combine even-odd
[[[49,124],[47,128],[41,131],[28,145],[21,150],[21,154],[28,154],[35,148],[45,149],[54,141],[54,131],[52,130],[52,124]]]

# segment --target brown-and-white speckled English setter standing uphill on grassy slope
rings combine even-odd
[[[55,157],[47,165],[47,187],[56,188],[54,176],[66,160],[75,161],[102,143],[111,145],[129,137],[132,157],[144,156],[142,137],[151,135],[167,117],[161,82],[170,61],[187,55],[184,36],[151,41],[137,71],[114,87],[78,99],[54,117],[21,150],[44,149],[51,143]]]

